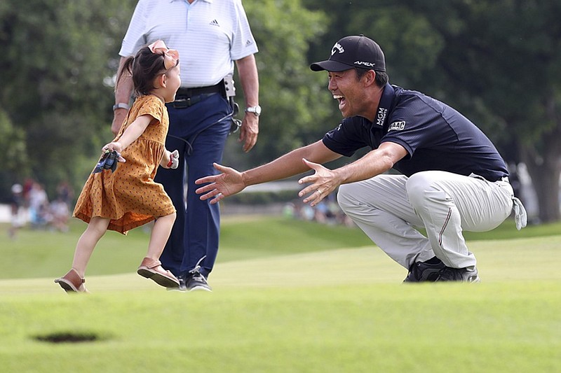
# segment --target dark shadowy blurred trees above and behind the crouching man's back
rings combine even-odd
[[[311,48],[311,59],[327,57],[326,49],[342,36],[374,38],[392,83],[465,113],[508,162],[527,164],[540,220],[560,220],[561,1],[305,4],[329,9],[332,22]]]

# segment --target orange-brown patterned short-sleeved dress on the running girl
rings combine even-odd
[[[114,172],[105,169],[90,174],[74,207],[75,218],[86,223],[90,223],[94,216],[109,218],[108,230],[127,234],[158,216],[175,213],[163,186],[154,182],[165,152],[165,136],[170,122],[161,99],[151,94],[138,97],[114,141],[121,138],[130,123],[145,114],[155,120],[123,150],[121,155],[126,162],[119,163]]]

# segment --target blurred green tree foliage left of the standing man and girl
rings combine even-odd
[[[11,162],[53,190],[83,184],[76,164],[111,139],[111,76],[136,1],[4,0],[0,107],[25,132],[27,159]],[[4,136],[4,133],[3,133]]]

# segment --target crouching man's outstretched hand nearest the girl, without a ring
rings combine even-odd
[[[196,194],[201,195],[199,197],[201,200],[212,198],[210,204],[215,204],[224,197],[235,195],[245,189],[241,172],[221,164],[213,163],[213,165],[221,174],[205,176],[195,181],[197,185],[208,183],[195,191]]]

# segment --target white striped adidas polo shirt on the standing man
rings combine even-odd
[[[140,0],[119,55],[158,39],[180,52],[182,87],[215,85],[257,52],[241,0]]]

